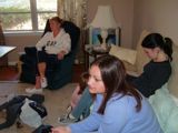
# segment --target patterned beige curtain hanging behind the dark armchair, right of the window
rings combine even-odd
[[[81,29],[77,59],[83,62],[83,44],[86,43],[87,0],[58,0],[58,16],[76,23]]]

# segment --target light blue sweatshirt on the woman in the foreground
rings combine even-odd
[[[97,94],[91,114],[81,122],[70,124],[71,133],[162,133],[145,98],[140,112],[136,112],[136,100],[129,95],[112,96],[107,102],[103,115],[97,113],[101,102],[102,95]]]

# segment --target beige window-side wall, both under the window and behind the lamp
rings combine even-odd
[[[110,4],[112,7],[116,21],[121,24],[121,44],[130,47],[132,42],[132,18],[134,0],[88,0],[87,19],[91,22],[99,4]],[[9,62],[18,61],[18,52],[23,51],[26,45],[34,45],[40,34],[6,34],[7,44],[16,45],[17,49],[9,53]]]

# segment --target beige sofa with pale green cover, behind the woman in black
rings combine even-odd
[[[149,61],[141,49],[141,41],[148,33],[142,31],[136,50],[111,45],[109,54],[121,59],[129,74],[139,75]],[[170,79],[148,99],[165,133],[178,133],[178,45],[174,44],[172,49]]]

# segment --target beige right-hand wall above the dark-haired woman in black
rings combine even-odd
[[[135,44],[144,29],[160,32],[178,44],[178,0],[135,0],[134,6]]]

